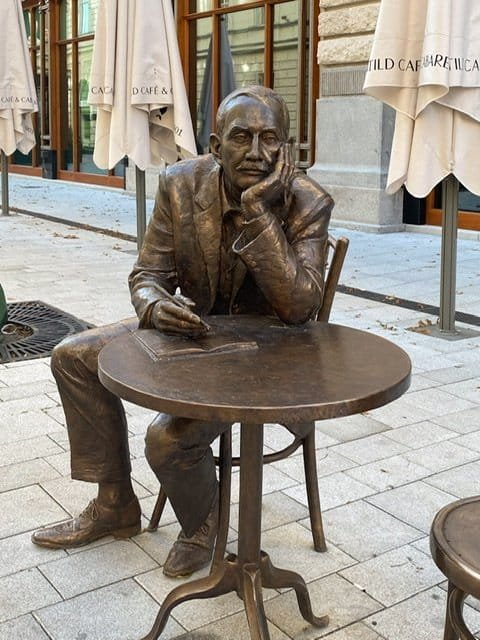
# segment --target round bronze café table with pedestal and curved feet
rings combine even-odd
[[[238,549],[206,578],[166,597],[150,633],[155,640],[177,604],[236,591],[254,640],[268,640],[262,587],[295,589],[302,616],[316,617],[303,578],[273,566],[261,550],[263,424],[302,423],[374,409],[398,398],[410,383],[407,354],[388,340],[350,327],[310,322],[286,326],[265,317],[208,318],[211,337],[227,332],[238,349],[171,353],[175,338],[154,330],[121,336],[100,353],[101,382],[118,396],[182,417],[241,423]],[[164,355],[162,355],[162,353]]]

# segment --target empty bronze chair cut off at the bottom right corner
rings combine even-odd
[[[469,595],[480,600],[480,496],[457,500],[440,509],[430,530],[430,551],[448,578],[443,640],[475,640],[463,619]]]

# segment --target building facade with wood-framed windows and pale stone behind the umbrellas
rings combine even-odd
[[[394,113],[363,95],[380,0],[172,0],[199,152],[232,88],[265,84],[289,105],[296,160],[336,200],[346,226],[396,231],[441,223],[441,193],[385,194]],[[133,188],[127,161],[93,163],[96,112],[88,104],[100,0],[23,0],[40,103],[37,145],[11,170]],[[147,188],[155,189],[155,171]],[[480,228],[480,198],[464,190],[462,226]],[[478,211],[478,212],[477,212]]]

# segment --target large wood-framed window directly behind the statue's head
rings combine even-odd
[[[318,0],[184,0],[177,2],[185,79],[199,148],[222,98],[263,84],[290,110],[300,167],[313,164]]]

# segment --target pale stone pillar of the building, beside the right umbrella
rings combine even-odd
[[[385,193],[395,114],[363,94],[377,0],[320,0],[320,99],[308,174],[335,199],[333,222],[400,231],[403,196]]]

